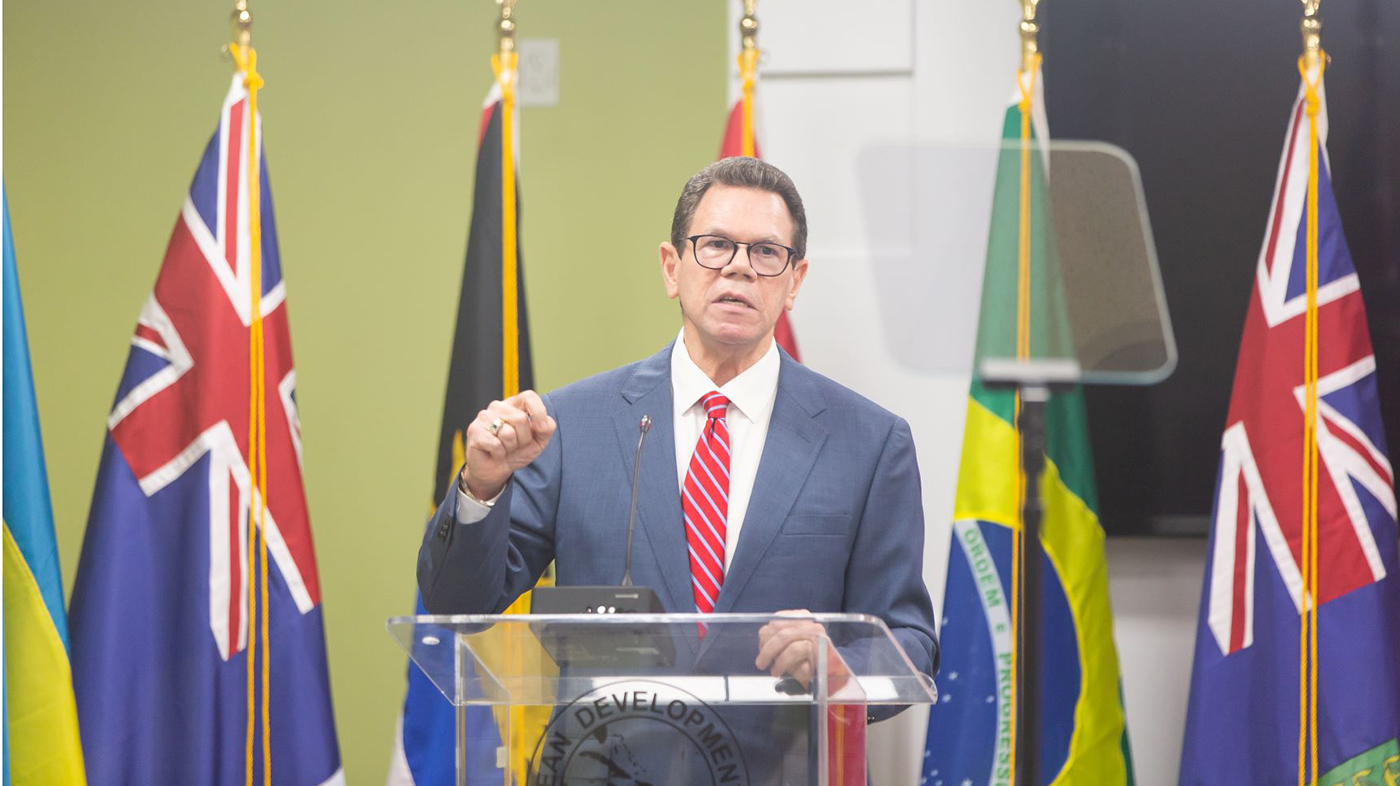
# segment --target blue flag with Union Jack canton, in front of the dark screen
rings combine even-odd
[[[1326,786],[1394,783],[1400,778],[1394,474],[1380,427],[1361,283],[1331,192],[1320,74],[1317,83],[1319,773]],[[1305,84],[1289,112],[1221,437],[1182,783],[1298,780],[1313,150],[1306,92]]]

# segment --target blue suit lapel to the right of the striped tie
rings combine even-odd
[[[749,509],[743,514],[739,544],[735,546],[729,570],[724,576],[724,587],[714,605],[715,612],[734,608],[735,598],[743,591],[743,586],[753,576],[763,553],[792,510],[792,503],[797,502],[797,495],[802,490],[826,441],[826,427],[813,419],[826,408],[826,402],[812,384],[811,374],[785,352],[783,353],[778,391],[773,402],[769,436],[763,444],[763,458],[753,479]],[[686,574],[689,573],[687,563]]]

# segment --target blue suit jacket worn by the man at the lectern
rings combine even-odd
[[[491,513],[456,523],[456,486],[419,551],[434,614],[500,614],[550,560],[559,584],[623,574],[637,425],[641,453],[633,581],[694,612],[672,425],[671,347],[545,397],[559,423]],[[889,625],[934,674],[938,642],[923,579],[924,514],[909,423],[781,353],[777,398],[743,530],[715,612],[861,612]]]

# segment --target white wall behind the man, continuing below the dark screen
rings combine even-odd
[[[741,14],[731,0],[731,97]],[[812,272],[794,329],[813,368],[910,420],[924,481],[924,577],[941,609],[969,380],[948,360],[911,367],[917,347],[890,336],[902,324],[917,335],[937,324],[953,349],[972,340],[990,189],[948,188],[967,182],[951,167],[861,168],[879,161],[882,144],[988,144],[1000,136],[1015,91],[1019,6],[763,0],[757,14],[759,144],[792,175],[811,224]],[[1053,129],[1054,106],[1049,113]],[[892,293],[892,282],[906,286]],[[1203,548],[1109,542],[1141,786],[1175,780]],[[917,783],[925,719],[906,712],[871,729],[874,783]]]

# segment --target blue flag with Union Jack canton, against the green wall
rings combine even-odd
[[[249,766],[262,782],[258,731],[253,761],[245,761],[251,640],[263,653],[256,660],[270,666],[263,698],[273,783],[344,780],[302,490],[286,284],[255,106],[244,76],[235,76],[137,318],[106,420],[71,609],[78,719],[94,783],[232,786]],[[248,165],[253,130],[258,191]],[[258,213],[249,193],[259,195]],[[249,389],[255,280],[266,485],[248,460],[249,399],[258,398]],[[266,572],[248,559],[256,556],[248,548],[255,483],[267,500]],[[249,588],[263,574],[266,640],[248,614]],[[255,677],[255,687],[260,682]],[[255,717],[262,708],[255,702]]]

